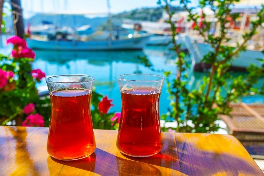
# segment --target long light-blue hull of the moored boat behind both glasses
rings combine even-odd
[[[137,35],[133,38],[118,40],[35,40],[27,39],[28,47],[37,50],[141,50],[148,42],[149,34]]]

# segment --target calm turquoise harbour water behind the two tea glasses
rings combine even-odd
[[[163,75],[162,71],[152,71],[138,62],[138,56],[146,55],[155,69],[175,72],[175,60],[168,53],[167,47],[146,47],[142,51],[97,51],[97,52],[65,52],[35,50],[36,58],[33,68],[43,70],[46,75],[86,74],[96,78],[97,92],[113,99],[111,111],[121,111],[121,97],[117,76],[131,73],[149,73]],[[233,75],[247,74],[235,72]],[[189,86],[198,87],[204,73],[190,72]],[[164,76],[164,75],[163,75]],[[258,81],[261,86],[264,78]],[[43,80],[37,86],[43,86]],[[163,85],[160,97],[160,113],[166,113],[170,101],[167,99],[166,86]],[[264,103],[263,96],[243,97],[246,103]]]

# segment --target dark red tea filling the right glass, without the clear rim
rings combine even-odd
[[[157,89],[122,91],[121,98],[118,149],[131,156],[150,156],[160,152],[160,92]]]

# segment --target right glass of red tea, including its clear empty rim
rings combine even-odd
[[[150,74],[120,75],[122,110],[117,148],[132,157],[148,157],[162,148],[159,99],[164,77]]]

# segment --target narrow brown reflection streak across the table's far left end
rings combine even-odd
[[[9,127],[10,133],[16,140],[16,154],[14,170],[10,175],[40,175],[34,161],[31,159],[27,144],[27,130],[23,127]],[[9,153],[10,154],[10,153]]]

